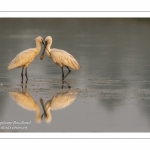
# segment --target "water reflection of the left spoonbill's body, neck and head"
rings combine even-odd
[[[21,92],[9,92],[10,97],[16,101],[18,105],[27,110],[35,111],[36,121],[40,123],[41,110],[39,105],[34,101],[33,97],[28,93],[27,89],[22,89]]]

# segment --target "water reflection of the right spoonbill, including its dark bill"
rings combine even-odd
[[[48,100],[44,106],[43,100],[41,99],[40,102],[43,107],[43,115],[45,115],[45,120],[47,123],[51,122],[52,115],[51,110],[57,110],[65,108],[72,104],[72,102],[76,99],[78,92],[77,91],[67,91],[58,93],[52,97],[51,100]],[[41,116],[43,118],[43,115]]]

